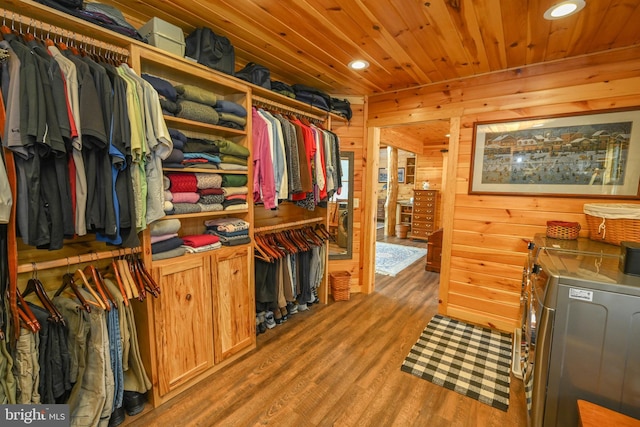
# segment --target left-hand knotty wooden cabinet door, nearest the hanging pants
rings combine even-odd
[[[162,283],[153,311],[163,396],[213,366],[209,258],[166,260],[154,271]]]

